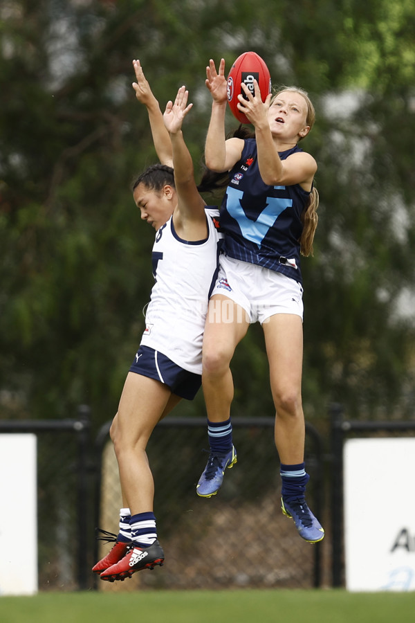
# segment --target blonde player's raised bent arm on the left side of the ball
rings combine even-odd
[[[228,101],[225,78],[225,60],[221,59],[219,73],[210,59],[206,67],[206,87],[212,95],[212,115],[205,143],[205,163],[212,171],[228,171],[241,157],[243,141],[241,138],[225,140],[225,112]]]

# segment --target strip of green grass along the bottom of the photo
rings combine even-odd
[[[415,593],[187,590],[0,597],[1,623],[412,623]]]

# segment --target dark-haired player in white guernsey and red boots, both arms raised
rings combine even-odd
[[[145,80],[139,64],[135,69],[140,81]],[[167,103],[163,116],[174,170],[165,164],[154,165],[133,185],[133,198],[142,219],[156,230],[152,255],[156,282],[147,307],[145,332],[110,430],[124,508],[116,544],[93,567],[107,581],[163,564],[146,446],[160,419],[181,398],[193,399],[201,386],[203,329],[220,235],[199,195],[192,158],[183,139],[183,119],[192,107],[187,105],[187,96],[185,87],[181,87],[175,102]],[[151,126],[153,136],[160,132],[158,136],[165,143],[158,104],[154,107],[151,101],[156,124]],[[157,147],[156,138],[154,141]],[[168,161],[168,147],[165,153]],[[214,214],[218,211],[214,210]]]

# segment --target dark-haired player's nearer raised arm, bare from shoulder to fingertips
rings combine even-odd
[[[178,89],[176,100],[167,102],[163,120],[172,141],[174,183],[178,197],[173,215],[174,226],[181,237],[201,240],[207,235],[205,202],[194,181],[192,156],[182,132],[183,119],[192,108],[192,104],[187,105],[188,96],[185,87]]]

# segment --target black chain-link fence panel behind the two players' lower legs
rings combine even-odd
[[[154,512],[165,566],[161,573],[134,575],[122,590],[320,586],[321,544],[303,541],[293,521],[281,512],[274,418],[234,417],[232,425],[238,462],[227,470],[219,494],[209,499],[196,496],[196,482],[208,458],[202,451],[208,443],[206,419],[169,417],[156,427],[147,454],[156,486]],[[98,435],[98,456],[105,454],[108,430],[109,424]],[[109,456],[98,469],[103,480],[97,482],[95,514],[97,524],[117,532],[121,500],[118,478],[111,478],[116,471],[111,446]],[[306,427],[306,464],[311,474],[308,500],[321,516],[322,442],[312,426]],[[97,547],[95,558],[108,550],[109,545]],[[107,585],[98,580],[99,588],[106,590],[102,584]]]

